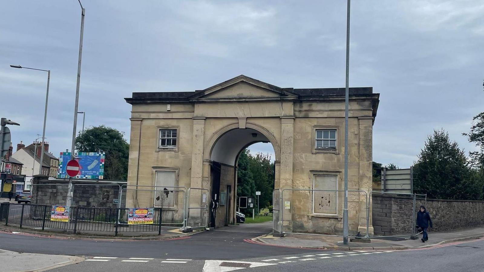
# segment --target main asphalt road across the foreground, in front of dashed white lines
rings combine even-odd
[[[292,254],[232,261],[170,260],[169,258],[149,260],[129,258],[96,259],[90,257],[88,261],[51,271],[228,272],[245,267],[250,272],[481,272],[484,271],[483,257],[484,240],[481,240],[425,250],[319,251],[313,254]],[[220,266],[221,264],[222,266]]]

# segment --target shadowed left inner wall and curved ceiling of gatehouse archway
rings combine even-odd
[[[272,149],[274,157],[277,157],[275,155],[277,151],[274,150],[274,146],[277,146],[277,144],[254,128],[230,129],[214,142],[210,152],[209,177],[212,191],[210,227],[223,227],[237,223],[236,212],[239,210],[237,166],[242,152],[256,143],[267,143],[266,148]],[[271,146],[271,148],[268,148],[268,146]],[[248,206],[250,207],[250,204],[252,204],[252,207],[256,209],[256,201],[257,198],[254,198]]]

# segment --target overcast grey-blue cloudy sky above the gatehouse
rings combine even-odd
[[[94,1],[86,8],[79,111],[129,140],[133,91],[194,91],[244,74],[279,87],[345,86],[346,1]],[[80,7],[77,0],[3,1],[1,117],[14,147],[42,134],[70,149]],[[411,166],[433,129],[461,133],[484,111],[484,1],[354,0],[350,87],[380,93],[373,160]],[[80,115],[78,129],[82,127]],[[273,152],[268,144],[252,151]]]

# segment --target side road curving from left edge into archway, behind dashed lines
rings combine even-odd
[[[269,222],[271,223],[271,222]],[[272,223],[271,223],[272,224]],[[271,224],[247,224],[205,231],[168,241],[93,241],[0,233],[0,249],[16,252],[97,257],[243,259],[302,254],[311,249],[272,247],[244,242],[272,230]]]

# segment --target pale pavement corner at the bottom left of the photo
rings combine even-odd
[[[0,249],[2,272],[47,271],[83,261],[83,257],[20,253]]]

